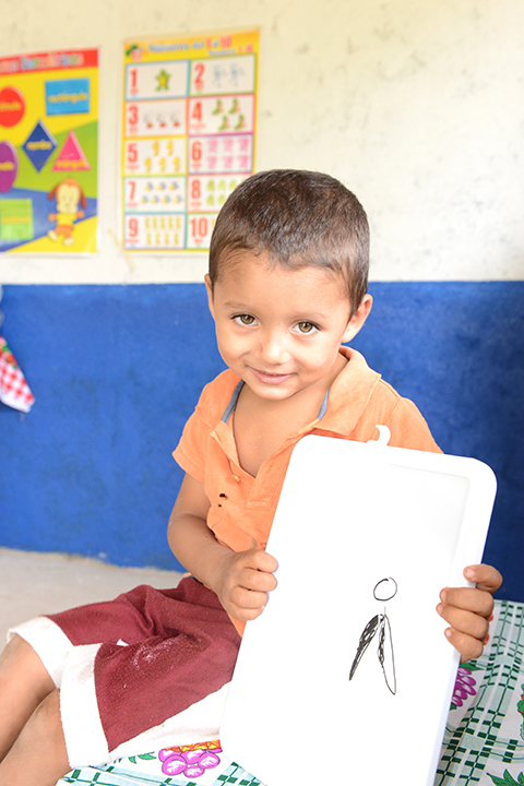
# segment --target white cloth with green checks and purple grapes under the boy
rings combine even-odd
[[[434,786],[524,786],[523,655],[524,604],[497,600],[483,656],[458,669]],[[311,766],[323,765],[315,761]],[[318,777],[319,783],[325,779],[320,769]],[[406,786],[416,782],[410,773]],[[338,772],[336,783],[348,779]],[[83,767],[57,786],[64,784],[263,786],[222,752],[218,740]]]

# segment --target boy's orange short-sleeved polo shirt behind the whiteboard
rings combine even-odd
[[[227,370],[204,388],[172,455],[204,485],[211,502],[207,525],[234,551],[265,548],[291,451],[307,433],[367,442],[378,438],[380,424],[390,428],[393,446],[440,452],[415,404],[372,371],[358,352],[342,346],[341,353],[348,362],[331,386],[325,412],[288,437],[257,477],[239,465],[228,422],[240,378]]]

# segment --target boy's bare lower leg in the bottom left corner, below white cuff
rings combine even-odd
[[[5,759],[0,786],[55,786],[71,767],[60,719],[60,691],[37,706]]]

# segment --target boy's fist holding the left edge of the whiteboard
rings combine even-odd
[[[277,561],[266,551],[231,551],[212,588],[231,617],[255,619],[265,608],[267,593],[276,587],[273,572],[277,568]]]

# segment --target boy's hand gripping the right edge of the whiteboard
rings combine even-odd
[[[499,571],[486,564],[469,565],[464,577],[476,586],[446,587],[440,593],[442,603],[437,606],[439,615],[451,626],[445,635],[461,653],[461,663],[483,654],[493,610],[491,596],[502,584]]]

